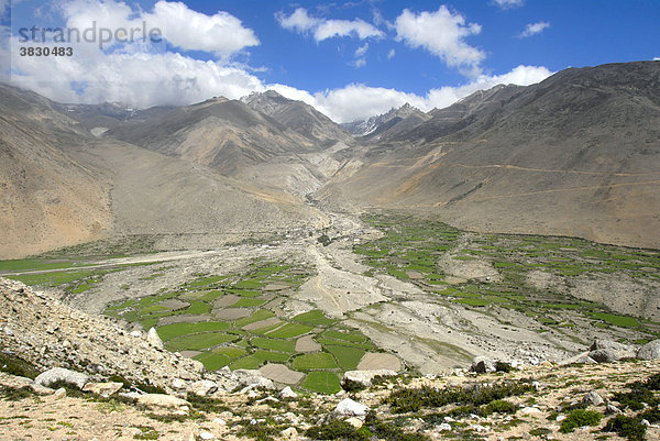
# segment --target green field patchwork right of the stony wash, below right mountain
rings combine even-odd
[[[660,323],[648,318],[657,315],[652,305],[646,311],[641,305],[644,313],[631,315],[606,306],[620,300],[617,293],[605,293],[605,301],[575,297],[592,283],[601,283],[594,285],[600,287],[622,279],[636,290],[657,291],[660,252],[656,250],[574,238],[462,232],[396,214],[363,220],[385,232],[376,241],[353,246],[371,266],[367,275],[386,273],[438,299],[481,312],[492,310],[496,316],[497,308],[524,312],[538,322],[537,332],[593,326],[634,330],[638,341],[660,334]]]

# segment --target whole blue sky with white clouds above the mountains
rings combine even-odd
[[[167,46],[80,43],[72,57],[18,55],[43,45],[19,42],[22,26],[92,21],[111,30],[145,21]],[[660,57],[658,23],[658,0],[14,0],[3,16],[3,75],[59,101],[135,107],[272,88],[343,122],[406,101],[444,107],[566,67],[650,60]]]

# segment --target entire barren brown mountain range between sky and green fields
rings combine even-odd
[[[657,62],[342,125],[274,91],[135,110],[0,85],[0,258],[131,234],[211,245],[372,209],[660,247]]]

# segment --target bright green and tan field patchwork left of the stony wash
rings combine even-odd
[[[341,373],[376,348],[320,310],[290,316],[280,309],[310,276],[301,267],[255,262],[243,273],[199,274],[177,289],[112,304],[106,313],[154,327],[167,350],[210,371],[262,368],[280,383],[336,393]]]

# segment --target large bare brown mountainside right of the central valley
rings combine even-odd
[[[452,135],[373,148],[369,166],[318,197],[484,231],[657,247],[659,126],[660,64],[569,69]]]

